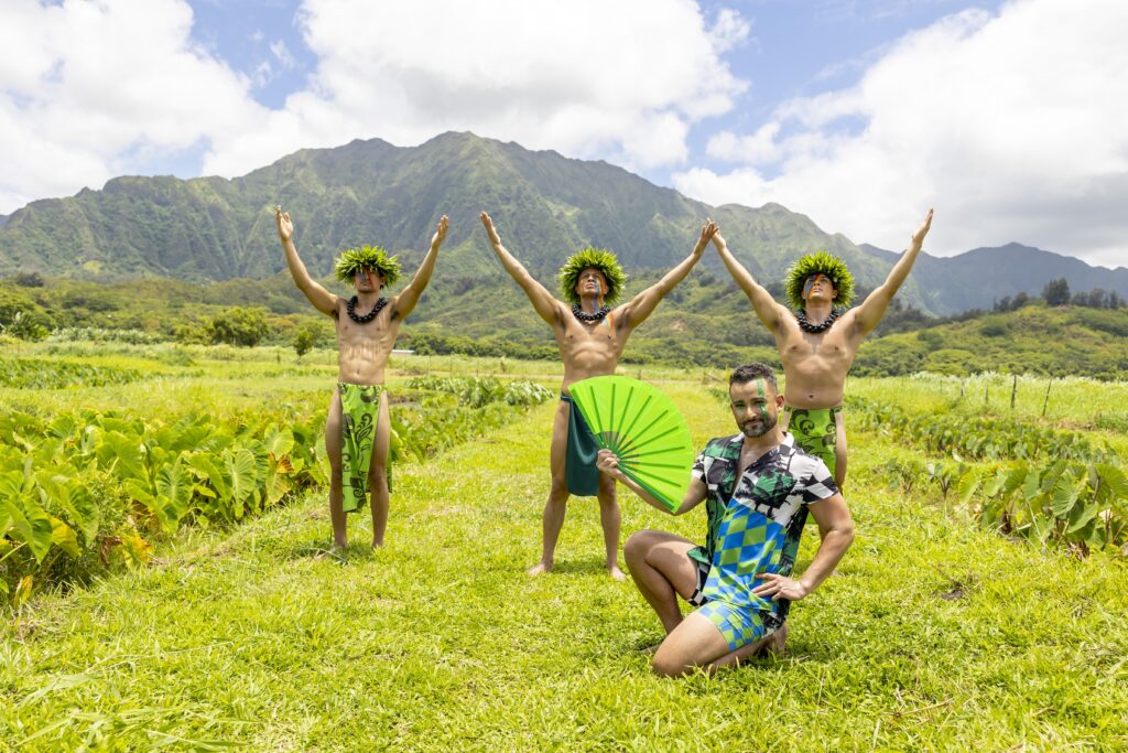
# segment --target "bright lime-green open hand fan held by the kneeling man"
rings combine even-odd
[[[671,511],[681,506],[694,465],[689,427],[658,387],[628,377],[582,379],[569,387],[596,443],[619,470]]]

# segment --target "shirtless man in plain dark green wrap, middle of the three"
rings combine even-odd
[[[571,303],[569,305],[554,298],[505,251],[493,220],[485,212],[482,212],[482,224],[490,234],[490,242],[502,266],[525,290],[540,318],[553,329],[564,360],[561,403],[553,421],[549,455],[553,480],[545,504],[544,544],[540,561],[528,573],[538,576],[553,569],[553,554],[564,526],[569,496],[596,496],[599,498],[599,522],[607,550],[607,571],[616,580],[623,580],[618,561],[620,515],[615,498],[615,480],[601,475],[596,467],[599,448],[594,446],[591,431],[579,411],[573,409],[569,385],[592,376],[615,374],[627,338],[653,313],[666,294],[689,273],[716,231],[716,225],[712,220],[705,224],[693,253],[666,277],[631,301],[611,309],[609,305],[623,290],[626,277],[610,252],[588,248],[574,254],[561,268],[561,292]]]

